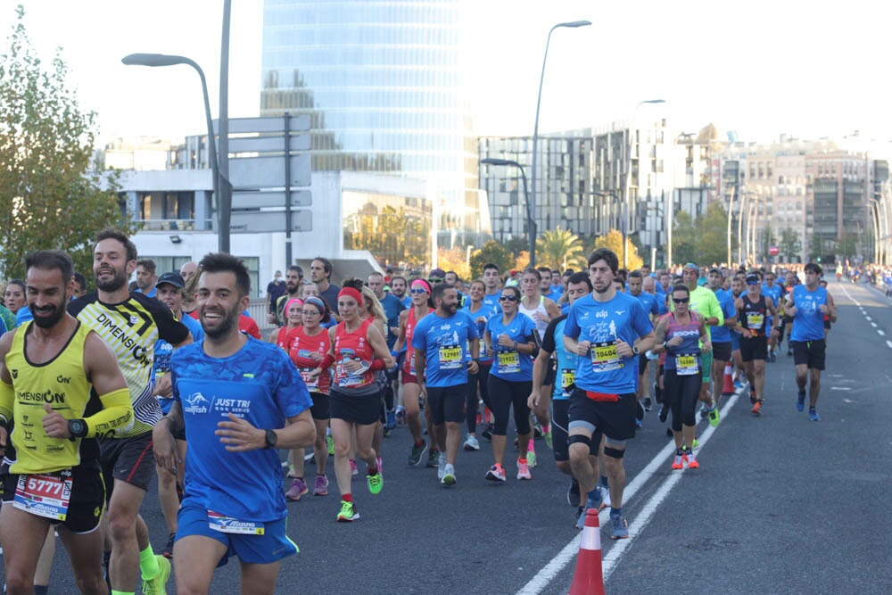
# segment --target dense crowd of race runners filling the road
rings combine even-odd
[[[784,406],[764,377],[785,341],[795,407],[819,421],[836,322],[814,263],[626,271],[598,249],[582,271],[487,264],[470,282],[434,269],[339,286],[319,257],[309,278],[294,265],[268,285],[276,328],[264,340],[247,314],[241,260],[211,253],[156,276],[113,229],[95,236],[94,257],[92,293],[61,251],[29,255],[26,278],[4,293],[9,593],[47,591],[55,535],[82,592],[134,593],[140,581],[143,593],[166,592],[171,560],[190,569],[177,574],[178,592],[207,592],[232,556],[244,592],[272,592],[280,561],[297,551],[286,502],[336,490],[333,521],[356,521],[357,461],[375,497],[384,436],[401,426],[412,444],[388,451],[388,466],[436,467],[448,489],[459,477],[529,481],[547,449],[577,525],[609,507],[610,535],[624,539],[623,461],[636,431],[667,424],[667,465],[697,469],[698,415],[721,423],[726,379],[754,416]],[[462,475],[459,452],[487,442],[485,475]],[[277,450],[288,451],[284,487]],[[159,553],[139,514],[155,478],[169,533]]]

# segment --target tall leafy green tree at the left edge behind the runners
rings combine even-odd
[[[30,252],[62,249],[87,273],[97,230],[114,225],[132,234],[136,227],[122,220],[117,176],[88,171],[95,112],[80,109],[61,52],[48,68],[37,57],[24,9],[16,12],[0,54],[0,269],[24,277]]]

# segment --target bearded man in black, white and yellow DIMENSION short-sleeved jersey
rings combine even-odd
[[[189,329],[161,302],[128,291],[136,269],[136,246],[115,229],[95,236],[93,273],[97,291],[70,302],[71,316],[108,344],[124,373],[133,404],[134,423],[117,438],[100,437],[101,462],[108,494],[106,534],[111,541],[111,589],[132,593],[143,576],[144,593],[163,593],[170,563],[155,556],[139,507],[154,475],[152,429],[161,419],[155,395],[172,393],[170,376],[152,384],[154,346],[163,339],[174,349],[192,343]]]

